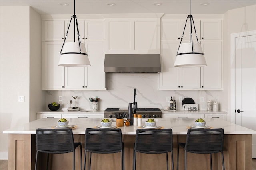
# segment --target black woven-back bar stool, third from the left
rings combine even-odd
[[[172,129],[137,129],[133,153],[133,170],[136,170],[136,152],[146,154],[166,153],[166,164],[168,168],[168,152],[171,152],[172,170]]]

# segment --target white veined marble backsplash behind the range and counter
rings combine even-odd
[[[138,107],[151,107],[164,109],[169,106],[169,101],[166,102],[166,97],[173,96],[176,99],[177,109],[182,109],[182,101],[179,98],[192,98],[200,110],[206,110],[207,100],[218,102],[219,109],[220,93],[222,90],[158,90],[159,74],[106,74],[107,90],[45,90],[46,103],[45,109],[48,109],[48,104],[58,102],[59,96],[62,96],[60,109],[70,107],[70,100],[75,105],[75,100],[72,96],[78,96],[76,99],[77,107],[80,110],[90,110],[89,98],[98,96],[99,110],[104,110],[107,107],[128,108],[128,103],[133,102],[133,92],[136,88]],[[204,102],[200,98],[204,97]]]

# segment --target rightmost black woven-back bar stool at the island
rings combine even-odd
[[[210,154],[210,168],[212,170],[212,153],[221,152],[222,168],[224,167],[223,158],[223,139],[224,129],[188,129],[186,143],[178,143],[177,148],[177,170],[179,161],[179,146],[185,150],[185,170],[187,152],[198,154]]]

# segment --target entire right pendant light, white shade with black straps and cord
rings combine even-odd
[[[196,35],[196,42],[193,42],[192,39],[192,22],[196,34],[196,27],[194,24],[193,16],[191,15],[191,0],[189,1],[189,15],[187,16],[187,20],[185,23],[185,27],[182,33],[182,37],[180,40],[180,45],[177,51],[176,60],[174,62],[175,67],[202,67],[207,66],[204,53],[200,43],[198,42],[198,38]],[[187,21],[190,21],[190,42],[189,43],[181,43],[184,35],[184,31],[186,28]]]

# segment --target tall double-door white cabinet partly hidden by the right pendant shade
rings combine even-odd
[[[161,68],[159,89],[200,88],[200,67],[174,67],[178,41],[161,41]]]

